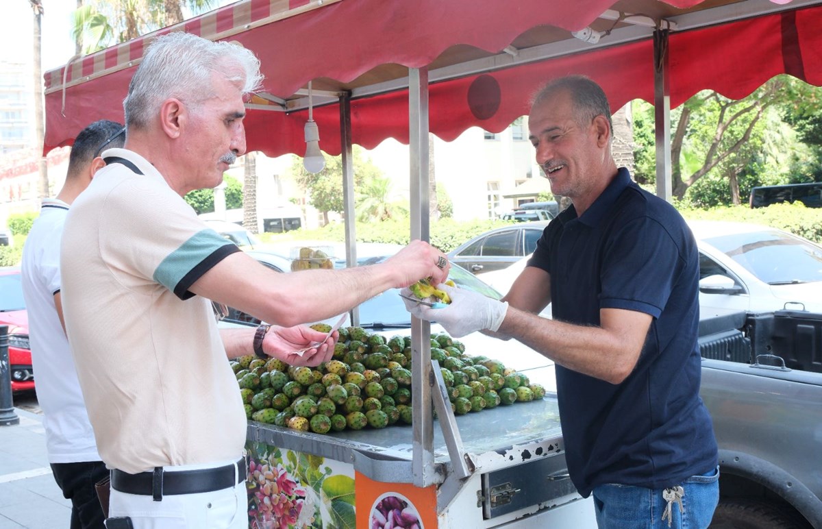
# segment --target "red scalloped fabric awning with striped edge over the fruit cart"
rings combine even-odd
[[[647,18],[620,16],[640,12]],[[430,128],[446,140],[474,125],[500,131],[527,113],[538,86],[568,73],[598,81],[613,108],[653,100],[653,27],[640,18],[677,28],[667,51],[672,106],[707,88],[741,98],[779,73],[822,85],[819,0],[242,0],[47,72],[44,150],[95,119],[122,121],[136,65],[169,31],[236,40],[261,59],[249,150],[305,150],[312,81],[321,148],[335,155],[341,94],[352,97],[354,143],[408,141],[409,67],[429,69]],[[570,37],[586,26],[612,32],[595,46]]]

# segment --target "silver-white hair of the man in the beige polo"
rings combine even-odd
[[[243,95],[259,90],[262,83],[260,60],[239,44],[212,42],[182,31],[158,37],[137,67],[122,102],[127,127],[146,128],[169,98],[196,108],[213,95],[212,72],[241,82]]]

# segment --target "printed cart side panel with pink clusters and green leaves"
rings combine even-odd
[[[248,527],[355,529],[353,466],[249,443]]]

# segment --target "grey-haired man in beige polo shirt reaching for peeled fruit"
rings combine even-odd
[[[197,219],[182,196],[213,188],[245,152],[243,96],[259,61],[236,44],[156,39],[124,101],[126,144],[72,206],[62,299],[100,457],[111,527],[247,527],[246,420],[226,357],[329,360],[330,318],[426,276],[442,254],[415,241],[370,267],[278,274]],[[210,299],[276,326],[219,332]],[[284,327],[279,327],[279,326]]]

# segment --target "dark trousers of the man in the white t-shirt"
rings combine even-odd
[[[95,483],[109,476],[102,461],[52,463],[52,473],[62,495],[72,500],[71,529],[104,529],[103,508]]]

